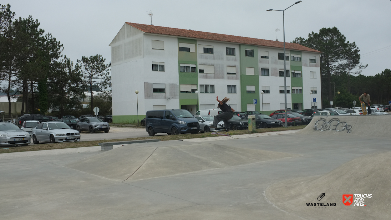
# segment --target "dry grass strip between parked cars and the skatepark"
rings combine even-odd
[[[279,127],[279,128],[259,128],[255,132],[249,132],[248,130],[236,130],[230,131],[230,135],[240,135],[240,134],[249,134],[249,133],[265,133],[265,132],[279,132],[287,130],[296,130],[303,129],[305,125],[300,126],[290,126],[288,128]],[[226,132],[221,132],[226,133]],[[203,138],[203,137],[216,137],[219,135],[212,135],[210,133],[196,133],[196,134],[181,134],[181,135],[161,135],[154,137],[134,137],[126,139],[109,139],[109,140],[99,140],[99,141],[81,141],[81,142],[64,142],[64,143],[46,143],[46,144],[34,144],[28,146],[4,146],[0,147],[0,153],[11,153],[11,152],[23,152],[23,151],[34,151],[34,150],[54,150],[54,149],[64,149],[64,148],[82,148],[90,146],[98,146],[98,143],[103,142],[115,142],[115,141],[133,141],[133,140],[145,140],[145,139],[160,139],[160,141],[171,141],[171,140],[181,140],[181,139],[190,139],[190,138]],[[8,149],[3,149],[8,148]]]

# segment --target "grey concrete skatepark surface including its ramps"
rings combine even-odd
[[[388,130],[380,126],[391,120],[387,115],[349,117],[370,117],[365,126],[379,132]],[[313,120],[287,134],[161,141],[105,152],[2,154],[0,218],[390,219],[384,207],[391,198],[391,139],[353,133],[363,126],[359,120],[344,119],[352,124],[350,133],[339,131],[346,134],[314,133]],[[336,206],[306,206],[321,193],[321,202]],[[368,207],[355,207],[345,206],[342,194],[373,196],[365,200]]]

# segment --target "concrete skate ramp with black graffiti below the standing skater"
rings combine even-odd
[[[391,137],[391,115],[315,116],[297,135]]]

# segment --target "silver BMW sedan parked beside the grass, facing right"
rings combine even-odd
[[[32,129],[32,142],[39,144],[40,141],[50,143],[80,141],[80,133],[61,121],[43,122]]]

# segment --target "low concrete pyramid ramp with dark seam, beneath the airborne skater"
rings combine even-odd
[[[113,180],[139,180],[301,156],[210,143],[175,146],[183,142],[128,144],[66,167]]]

